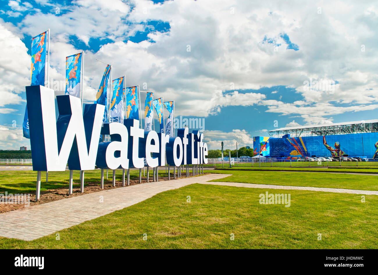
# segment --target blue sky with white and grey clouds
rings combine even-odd
[[[275,127],[377,118],[378,4],[329,2],[2,1],[0,149],[30,146],[31,38],[48,28],[52,83],[84,51],[84,102],[105,61],[127,86],[175,100],[177,116],[203,118],[210,149],[252,146]]]

